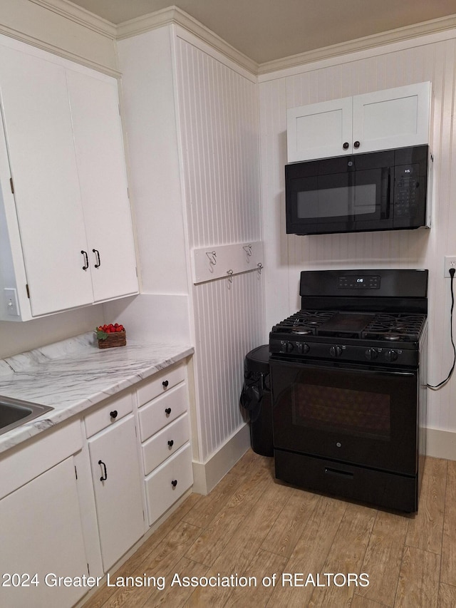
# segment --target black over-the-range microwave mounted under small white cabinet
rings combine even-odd
[[[286,232],[429,227],[431,170],[428,145],[286,165]]]

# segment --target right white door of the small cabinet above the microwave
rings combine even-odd
[[[353,142],[373,152],[429,143],[430,83],[353,97]]]

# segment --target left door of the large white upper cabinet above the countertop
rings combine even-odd
[[[0,46],[0,87],[32,314],[93,302],[65,70]]]

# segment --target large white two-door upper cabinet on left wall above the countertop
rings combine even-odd
[[[0,94],[0,319],[137,293],[115,78],[1,38]]]

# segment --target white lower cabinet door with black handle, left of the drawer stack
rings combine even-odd
[[[142,485],[133,416],[88,442],[103,570],[145,533]]]

